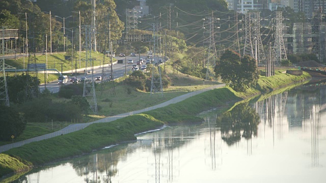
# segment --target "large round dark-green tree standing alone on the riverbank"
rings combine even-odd
[[[238,92],[255,86],[259,78],[256,60],[248,55],[241,57],[232,50],[226,50],[223,53],[214,71],[216,77],[221,76],[223,82]]]

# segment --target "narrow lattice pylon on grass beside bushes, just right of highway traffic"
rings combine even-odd
[[[162,87],[162,76],[161,76],[161,68],[159,63],[155,64],[155,28],[157,28],[156,23],[151,23],[153,26],[153,67],[152,67],[152,81],[151,81],[151,95],[155,93],[161,93],[163,97],[163,87]],[[156,67],[157,66],[157,67]],[[157,69],[157,70],[156,70]]]

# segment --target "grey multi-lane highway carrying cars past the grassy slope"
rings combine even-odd
[[[146,61],[146,56],[141,56],[141,57],[144,57],[145,58],[145,61]],[[128,59],[132,59],[133,60],[133,64],[128,64]],[[113,69],[113,76],[114,76],[114,79],[117,79],[119,77],[122,77],[124,76],[125,74],[125,71],[128,72],[129,71],[132,71],[132,65],[136,64],[138,59],[139,59],[139,56],[137,57],[130,57],[130,56],[127,56],[126,58],[125,57],[116,57],[116,59],[123,59],[123,64],[115,64],[112,66],[112,69]],[[155,58],[155,60],[158,59],[158,58]],[[127,64],[125,64],[125,60],[127,62]],[[145,63],[144,63],[145,64]],[[91,71],[91,68],[88,68],[87,69],[88,71]],[[77,75],[77,78],[80,79],[80,77],[83,77],[84,75]],[[97,67],[94,67],[94,74],[93,74],[93,78],[95,80],[96,76],[102,76],[102,68],[97,66]],[[92,79],[92,74],[91,72],[88,73],[86,75],[87,79]],[[100,81],[96,81],[96,82],[100,82]],[[71,84],[70,82],[70,78],[68,78],[68,82],[67,84]],[[50,82],[50,83],[46,83],[46,85],[44,84],[41,84],[40,85],[40,90],[43,91],[44,88],[46,88],[51,92],[51,93],[57,93],[59,92],[59,87],[60,87],[60,84],[58,84],[58,80],[56,81],[53,81],[53,82]]]

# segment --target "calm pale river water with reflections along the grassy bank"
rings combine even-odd
[[[15,182],[325,182],[326,86],[306,84],[200,114]]]

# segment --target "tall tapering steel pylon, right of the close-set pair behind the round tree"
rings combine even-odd
[[[274,54],[275,62],[278,66],[281,66],[281,61],[287,60],[286,50],[283,41],[283,17],[282,12],[276,12],[276,31],[274,42]]]

